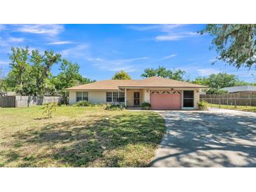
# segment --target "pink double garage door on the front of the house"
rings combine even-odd
[[[151,109],[180,109],[180,90],[154,90],[150,94]]]

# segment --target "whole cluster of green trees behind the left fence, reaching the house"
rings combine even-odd
[[[11,71],[4,85],[6,89],[15,91],[19,95],[58,95],[59,93],[64,95],[65,88],[93,82],[79,74],[78,64],[62,59],[60,54],[53,51],[29,52],[28,46],[13,47],[11,50]],[[52,76],[50,69],[60,61],[60,74]]]

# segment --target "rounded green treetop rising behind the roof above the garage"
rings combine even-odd
[[[180,69],[166,69],[166,67],[158,67],[156,69],[154,68],[147,68],[144,69],[144,73],[141,75],[141,77],[149,78],[151,76],[160,76],[163,78],[171,78],[174,80],[182,80],[183,76],[185,74],[185,71],[182,71]]]

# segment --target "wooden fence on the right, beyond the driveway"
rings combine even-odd
[[[238,92],[222,95],[200,95],[200,100],[210,104],[256,106],[256,92]]]

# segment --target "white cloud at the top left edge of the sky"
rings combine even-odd
[[[17,32],[56,36],[64,31],[63,25],[17,25]]]

